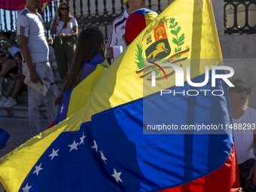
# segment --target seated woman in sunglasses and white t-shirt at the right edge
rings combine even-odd
[[[233,119],[233,133],[236,157],[239,165],[240,185],[243,191],[256,191],[256,163],[253,147],[256,145],[256,111],[246,106],[251,88],[245,81],[236,79],[230,87],[230,107]]]

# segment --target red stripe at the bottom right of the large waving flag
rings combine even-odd
[[[235,192],[239,190],[239,186],[239,170],[234,146],[229,159],[215,172],[162,192]]]

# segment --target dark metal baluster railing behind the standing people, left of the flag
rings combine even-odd
[[[63,1],[60,0],[60,2]],[[72,8],[71,14],[77,19],[79,30],[89,26],[99,26],[105,35],[105,40],[108,38],[114,18],[123,14],[126,9],[123,0],[66,0],[66,2]],[[161,0],[146,0],[146,6],[158,14],[166,8]],[[50,2],[42,13],[47,34],[49,34],[50,23],[53,20],[55,10],[54,2]],[[17,11],[0,10],[0,14],[3,16],[0,19],[0,30],[15,35]]]

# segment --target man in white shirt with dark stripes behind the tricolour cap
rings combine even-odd
[[[123,41],[123,34],[127,17],[129,14],[133,13],[133,11],[145,7],[145,0],[123,0],[123,2],[126,4],[126,11],[114,19],[111,26],[111,32],[108,36],[107,46],[111,47],[109,62],[111,62],[111,59],[113,59],[114,46],[122,46],[123,50],[126,48],[126,44]]]

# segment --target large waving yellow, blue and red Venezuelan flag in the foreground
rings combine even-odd
[[[78,112],[2,157],[6,190],[237,191],[232,130],[181,129],[231,123],[226,82],[216,79],[212,87],[209,75],[202,87],[187,78],[176,87],[178,74],[163,65],[190,66],[197,83],[205,81],[206,66],[212,72],[222,65],[211,1],[200,2],[169,5],[99,78]],[[149,69],[155,87],[154,73],[139,74]],[[171,125],[178,129],[163,129]]]

